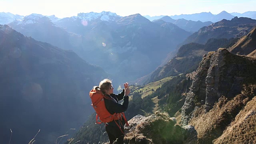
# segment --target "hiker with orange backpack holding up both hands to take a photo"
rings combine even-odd
[[[112,86],[111,80],[104,79],[100,82],[99,86],[94,86],[93,90],[90,92],[90,97],[91,98],[93,97],[93,94],[92,94],[93,92],[94,93],[98,91],[102,92],[104,97],[104,104],[107,110],[105,112],[105,115],[107,116],[107,113],[109,112],[111,115],[108,116],[108,118],[112,118],[112,119],[106,120],[106,119],[100,118],[100,120],[105,123],[105,130],[108,134],[110,144],[113,144],[113,143],[123,144],[124,143],[124,124],[128,125],[128,122],[123,112],[126,111],[128,108],[128,103],[129,103],[128,94],[130,93],[129,84],[126,82],[124,84],[124,89],[119,94],[114,94],[113,90],[114,88]],[[122,104],[118,103],[119,100],[123,100]],[[95,110],[96,108],[97,106],[94,106]],[[101,109],[104,109],[104,108],[101,108]],[[97,110],[96,110],[96,113],[97,115],[100,115],[100,112],[97,112]],[[104,114],[101,114],[101,115],[104,115]],[[104,118],[105,116],[102,116],[102,117]],[[98,120],[96,116],[96,123],[99,123],[97,121]]]

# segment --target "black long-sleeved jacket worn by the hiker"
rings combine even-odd
[[[129,96],[124,96],[124,89],[119,94],[110,94],[106,96],[112,98],[111,100],[104,98],[106,108],[110,114],[121,113],[127,110],[129,104]],[[123,100],[122,104],[118,103],[119,100]],[[114,121],[108,122],[108,124],[111,125],[112,123],[116,125]]]

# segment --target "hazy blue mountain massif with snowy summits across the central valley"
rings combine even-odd
[[[56,22],[32,14],[8,25],[38,41],[74,50],[89,63],[120,76],[120,81],[153,71],[192,34],[172,23],[150,22],[140,14],[121,17],[112,12],[80,13]],[[124,72],[129,77],[124,78]]]

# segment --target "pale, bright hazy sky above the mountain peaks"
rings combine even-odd
[[[115,12],[120,16],[150,16],[212,12],[256,11],[256,0],[0,0],[0,12],[32,13],[58,18],[77,16],[80,12]]]

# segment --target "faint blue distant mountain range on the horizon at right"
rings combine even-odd
[[[216,14],[216,15],[212,14],[211,12],[201,12],[201,13],[197,13],[197,14],[174,15],[174,16],[170,16],[170,18],[173,18],[174,20],[184,18],[185,20],[193,20],[193,21],[200,20],[201,22],[208,22],[208,21],[218,22],[218,21],[223,20],[223,19],[231,20],[235,16],[237,16],[238,18],[247,17],[247,18],[256,19],[256,11],[244,12],[242,14],[237,13],[237,12],[228,13],[226,11],[222,11],[219,14]],[[162,17],[164,17],[164,16],[152,16],[152,17],[145,16],[145,18],[148,18],[151,21],[158,20]]]

